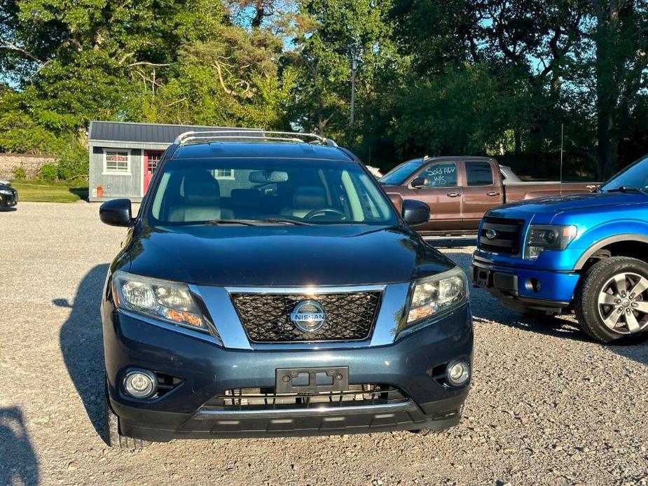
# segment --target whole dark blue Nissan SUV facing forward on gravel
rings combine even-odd
[[[135,218],[100,209],[130,227],[102,298],[109,444],[457,424],[467,280],[402,207],[329,139],[179,137]]]

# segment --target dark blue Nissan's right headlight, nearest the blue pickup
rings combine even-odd
[[[442,314],[468,298],[464,272],[458,267],[414,283],[407,326]]]

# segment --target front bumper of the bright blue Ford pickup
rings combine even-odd
[[[485,263],[475,256],[472,282],[516,310],[560,312],[570,305],[580,275],[577,272],[511,268]]]

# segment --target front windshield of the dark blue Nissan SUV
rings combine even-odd
[[[254,223],[393,225],[371,176],[338,160],[179,159],[163,166],[150,225]]]

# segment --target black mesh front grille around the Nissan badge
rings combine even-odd
[[[371,335],[380,310],[380,291],[320,293],[232,293],[232,302],[253,342],[361,341]],[[301,331],[290,313],[303,300],[316,300],[326,312],[324,326]]]

